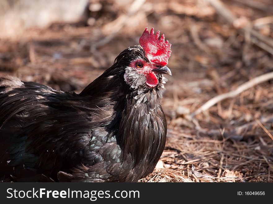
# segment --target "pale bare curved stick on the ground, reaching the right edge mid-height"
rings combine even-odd
[[[236,88],[233,91],[230,91],[228,93],[220,94],[216,97],[213,97],[212,99],[208,100],[205,104],[203,104],[200,108],[198,108],[195,112],[193,112],[190,116],[194,117],[197,114],[201,113],[202,111],[208,110],[210,107],[215,105],[216,103],[226,99],[226,98],[233,98],[239,93],[242,93],[243,91],[247,90],[248,88],[251,88],[257,84],[260,84],[262,82],[268,81],[270,79],[273,79],[273,72],[266,73],[264,75],[260,75],[258,77],[255,77],[253,79],[250,79],[249,81],[245,82],[244,84],[240,85],[238,88]]]

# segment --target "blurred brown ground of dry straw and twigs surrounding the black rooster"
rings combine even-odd
[[[273,182],[273,81],[202,107],[272,74],[272,0],[2,0],[0,75],[79,93],[145,27],[172,43],[172,76],[166,147],[140,181]]]

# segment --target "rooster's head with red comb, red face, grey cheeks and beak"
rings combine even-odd
[[[154,88],[163,81],[162,74],[172,75],[166,66],[171,56],[171,44],[165,41],[160,31],[154,35],[154,28],[145,28],[139,39],[140,46],[132,46],[120,53],[117,63],[126,65],[124,79],[132,88]],[[164,83],[164,82],[163,82]]]

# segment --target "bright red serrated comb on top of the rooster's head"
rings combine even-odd
[[[139,39],[141,47],[144,49],[146,56],[155,64],[165,66],[168,64],[168,59],[171,56],[171,45],[168,40],[165,42],[165,36],[162,34],[159,39],[160,31],[158,30],[154,35],[154,28],[150,33],[148,28],[145,28],[143,34]]]

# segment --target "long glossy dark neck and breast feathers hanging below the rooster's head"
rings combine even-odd
[[[160,86],[138,94],[132,91],[126,97],[117,142],[123,157],[132,157],[133,168],[141,176],[154,170],[165,146],[167,129],[161,97]]]

